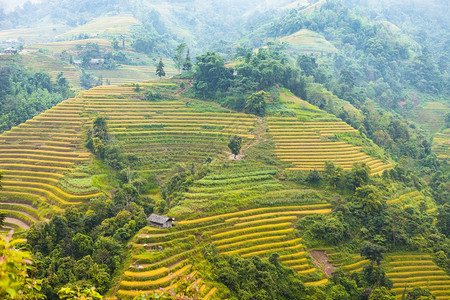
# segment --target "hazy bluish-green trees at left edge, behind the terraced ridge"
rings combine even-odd
[[[0,133],[25,122],[73,95],[59,73],[56,82],[43,72],[30,73],[16,66],[0,68]]]

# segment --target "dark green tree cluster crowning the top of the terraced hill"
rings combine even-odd
[[[223,58],[213,52],[196,59],[194,88],[203,98],[211,97],[222,105],[257,115],[265,113],[265,92],[283,86],[305,93],[300,70],[288,63],[280,45],[269,44],[258,53],[246,52],[245,61],[235,69],[227,68]]]

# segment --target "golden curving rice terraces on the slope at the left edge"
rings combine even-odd
[[[68,99],[0,135],[0,209],[8,228],[27,229],[60,208],[81,204],[99,194],[73,193],[59,182],[64,172],[90,160],[83,147],[84,105]]]

